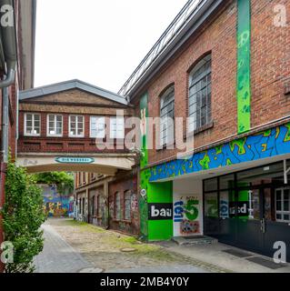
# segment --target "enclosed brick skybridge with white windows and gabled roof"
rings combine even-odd
[[[131,115],[123,96],[79,80],[21,92],[16,163],[29,173],[131,170],[135,154],[122,147]]]

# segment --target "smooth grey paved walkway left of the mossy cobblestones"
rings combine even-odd
[[[52,226],[44,225],[45,247],[35,256],[35,273],[77,273],[92,267],[85,259],[58,235]]]

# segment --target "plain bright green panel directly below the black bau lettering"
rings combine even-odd
[[[168,240],[173,237],[173,220],[150,220],[149,226],[149,241]]]

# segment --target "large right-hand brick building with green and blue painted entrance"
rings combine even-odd
[[[159,148],[143,132],[147,240],[215,236],[266,256],[289,241],[289,15],[289,1],[188,1],[119,92],[161,117]]]

